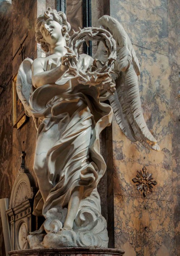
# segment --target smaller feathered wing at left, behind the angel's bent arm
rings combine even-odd
[[[32,70],[31,70],[32,62],[33,62],[32,59],[27,58],[23,60],[23,62],[21,63],[18,70],[18,74],[17,74],[16,90],[17,90],[18,97],[24,106],[26,115],[33,117],[33,120],[36,125],[36,129],[37,129],[38,118],[33,116],[30,110],[30,105],[29,105],[29,99],[33,92]]]

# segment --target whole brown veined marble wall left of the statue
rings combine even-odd
[[[0,85],[7,85],[4,91],[0,88],[0,198],[10,199],[12,186],[21,164],[19,159],[21,151],[26,152],[26,167],[36,181],[33,172],[36,129],[32,119],[19,130],[13,128],[12,77],[21,64],[21,55],[19,52],[16,55],[15,53],[26,35],[28,37],[23,44],[24,57],[34,59],[37,55],[34,31],[37,1],[40,4],[43,2],[43,0],[13,0],[12,4],[5,1],[0,4]],[[4,255],[5,245],[0,219],[0,256]]]

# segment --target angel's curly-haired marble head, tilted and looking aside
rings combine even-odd
[[[69,40],[71,25],[67,22],[66,15],[57,10],[47,8],[44,14],[36,20],[36,42],[41,44],[42,50],[48,52],[52,44],[56,44],[62,37]]]

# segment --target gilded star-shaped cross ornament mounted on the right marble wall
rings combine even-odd
[[[152,188],[153,188],[152,184],[156,185],[157,182],[156,182],[156,180],[152,180],[153,179],[152,178],[152,173],[146,172],[147,169],[146,169],[145,166],[143,166],[142,170],[143,170],[143,172],[142,171],[137,171],[137,175],[136,175],[137,178],[132,179],[132,181],[134,183],[136,183],[136,182],[139,183],[139,184],[136,184],[137,189],[138,190],[140,189],[140,191],[144,191],[143,195],[144,195],[144,197],[146,197],[147,194],[149,193],[149,191],[153,192],[152,191]]]

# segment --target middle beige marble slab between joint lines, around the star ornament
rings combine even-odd
[[[148,198],[173,200],[172,189],[172,121],[170,67],[168,57],[135,46],[141,65],[139,88],[145,121],[157,138],[160,152],[145,149],[139,142],[131,142],[113,119],[114,193],[143,197],[132,179],[143,166],[158,183]]]

